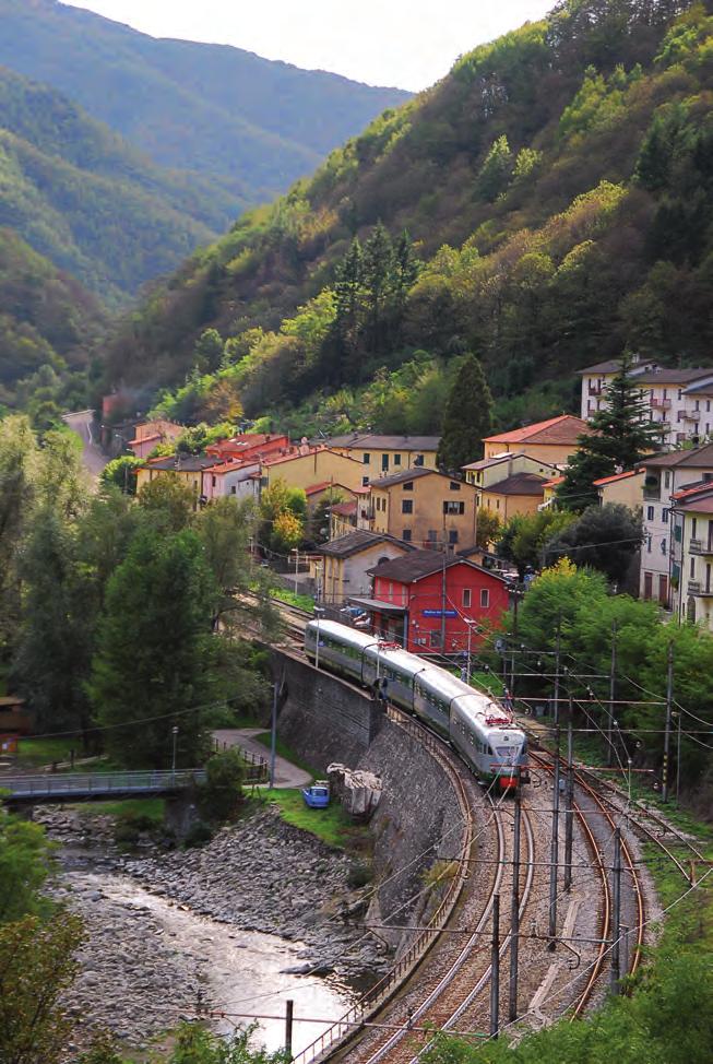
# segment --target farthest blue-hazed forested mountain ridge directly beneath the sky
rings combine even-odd
[[[252,202],[284,191],[409,94],[239,48],[156,39],[55,0],[0,0],[0,63],[81,104],[162,166]],[[275,27],[278,32],[278,27]]]

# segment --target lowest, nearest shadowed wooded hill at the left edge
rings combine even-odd
[[[106,324],[78,281],[0,228],[0,417],[7,407],[27,410],[41,428],[60,404],[75,409],[87,352]]]

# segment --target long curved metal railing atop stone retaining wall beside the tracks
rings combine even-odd
[[[463,835],[461,839],[459,873],[448,882],[445,894],[428,921],[427,926],[416,936],[407,951],[394,967],[363,994],[358,1002],[324,1030],[310,1045],[293,1057],[293,1064],[311,1064],[319,1061],[328,1051],[333,1052],[337,1042],[354,1035],[389,998],[399,986],[411,976],[417,965],[424,959],[431,946],[437,942],[455,908],[461,890],[468,874],[468,855],[473,839],[473,828],[467,796],[457,772],[449,764],[443,754],[442,745],[425,728],[411,720],[405,713],[392,706],[388,707],[387,716],[400,728],[417,740],[441,765],[450,777],[457,797],[460,814],[463,817]]]

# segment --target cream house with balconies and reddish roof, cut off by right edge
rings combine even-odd
[[[674,536],[680,545],[680,577],[673,608],[680,620],[713,631],[713,481],[673,497]]]

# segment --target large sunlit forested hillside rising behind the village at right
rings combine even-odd
[[[166,404],[183,416],[321,398],[423,431],[466,350],[501,406],[537,385],[512,421],[625,347],[710,360],[712,43],[700,3],[565,0],[476,48],[193,256],[116,339],[112,380],[193,367]]]

